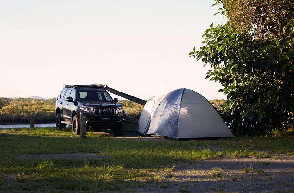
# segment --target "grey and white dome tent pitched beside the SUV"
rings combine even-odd
[[[175,139],[234,137],[210,102],[185,88],[147,101],[137,131]]]

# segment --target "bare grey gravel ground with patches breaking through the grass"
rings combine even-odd
[[[126,137],[122,137],[126,138]],[[169,141],[161,137],[127,137],[134,140]],[[212,150],[220,146],[205,146]],[[134,182],[123,192],[294,192],[294,156],[271,154],[273,158],[221,157],[189,164],[175,164],[171,171],[152,172],[159,180]],[[103,159],[95,153],[22,155],[36,159]],[[244,170],[249,172],[244,172]]]

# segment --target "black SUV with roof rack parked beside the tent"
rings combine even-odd
[[[86,128],[107,129],[116,136],[123,134],[126,112],[117,98],[112,99],[104,86],[64,85],[55,101],[58,130],[72,125],[74,135],[80,134],[80,114],[86,115]]]

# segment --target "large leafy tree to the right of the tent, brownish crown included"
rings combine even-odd
[[[214,5],[221,3],[228,22],[210,25],[205,45],[194,47],[190,57],[214,67],[206,78],[220,82],[227,94],[224,120],[246,134],[293,124],[294,2],[215,0]]]

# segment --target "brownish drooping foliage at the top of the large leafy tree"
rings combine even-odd
[[[293,0],[218,0],[236,33],[254,31],[254,38],[293,37]]]

